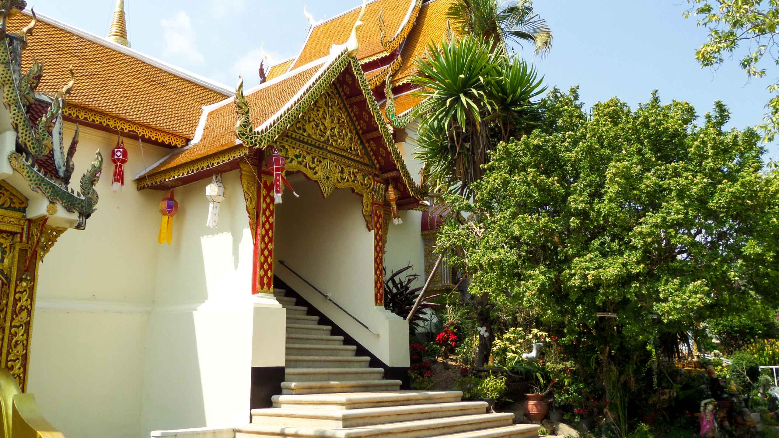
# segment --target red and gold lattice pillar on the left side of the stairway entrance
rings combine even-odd
[[[273,293],[273,245],[276,221],[276,204],[274,202],[273,175],[263,171],[257,185],[257,227],[254,238],[252,294]]]

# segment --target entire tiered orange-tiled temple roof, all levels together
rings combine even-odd
[[[358,51],[352,54],[361,65],[360,72],[347,69],[351,73],[334,76],[328,69],[337,55],[331,54],[331,48],[349,39],[361,8],[316,23],[298,55],[272,65],[266,83],[247,90],[252,125],[272,125],[273,118],[293,108],[315,81],[324,77],[345,80],[343,75],[347,74],[358,79],[356,83],[365,81],[370,90],[365,96],[355,94],[351,98],[364,99],[363,108],[379,108],[377,123],[391,132],[386,118],[382,119],[386,79],[389,77],[390,88],[397,96],[397,115],[408,113],[421,102],[411,92],[414,86],[408,79],[416,72],[415,60],[425,54],[428,44],[438,44],[446,36],[446,9],[451,1],[368,2],[363,25],[357,31]],[[28,19],[12,19],[11,26],[23,26]],[[210,178],[214,171],[237,168],[237,160],[249,155],[248,148],[235,137],[238,115],[233,90],[56,20],[40,21],[24,62],[32,62],[32,55],[44,62],[47,75],[38,90],[47,93],[55,92],[69,79],[72,66],[76,87],[64,112],[68,118],[98,128],[137,132],[150,143],[183,147],[139,175],[139,189],[167,189]],[[377,130],[370,117],[366,121],[363,140],[382,137],[382,129]],[[385,144],[376,147],[383,153],[391,152],[394,144],[386,144],[391,142],[391,137],[382,139]],[[377,172],[406,169],[402,157],[390,155],[392,163]],[[406,184],[406,196],[418,192],[418,187],[411,185]]]

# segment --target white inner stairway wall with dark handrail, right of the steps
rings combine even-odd
[[[277,205],[276,260],[285,260],[379,335],[327,302],[279,263],[276,274],[386,365],[407,366],[407,323],[374,306],[373,232],[365,227],[361,196],[336,189],[324,199],[318,183],[305,180],[294,182],[294,189],[300,198],[284,196],[284,203]]]

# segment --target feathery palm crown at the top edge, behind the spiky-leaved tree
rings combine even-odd
[[[552,29],[531,0],[454,0],[446,15],[460,35],[479,35],[504,47],[530,42],[541,57],[552,49]]]

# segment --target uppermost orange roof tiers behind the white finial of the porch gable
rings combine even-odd
[[[358,59],[368,58],[384,51],[379,37],[381,35],[379,12],[384,10],[384,24],[391,38],[403,24],[412,2],[414,0],[373,0],[368,3],[365,7],[365,16],[362,17],[363,25],[357,30],[357,39],[360,42]],[[351,35],[354,22],[360,15],[360,9],[361,6],[315,26],[292,68],[296,69],[328,55],[333,44],[344,44]]]

